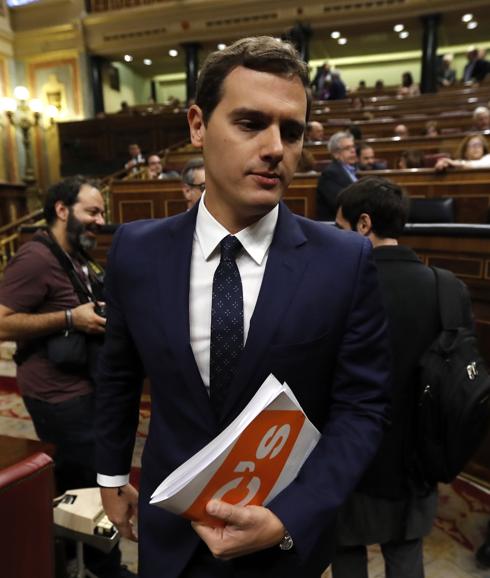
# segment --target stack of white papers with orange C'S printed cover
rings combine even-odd
[[[271,374],[226,429],[158,486],[150,504],[216,525],[205,511],[209,500],[266,505],[294,480],[319,438],[291,389]]]

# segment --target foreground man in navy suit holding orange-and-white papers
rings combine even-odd
[[[248,38],[211,54],[188,112],[192,143],[203,149],[205,193],[186,213],[128,223],[114,238],[97,463],[109,518],[135,538],[138,495],[128,472],[147,375],[141,578],[318,578],[334,546],[335,512],[382,438],[389,360],[370,243],[281,202],[308,109],[307,67],[288,43]],[[243,350],[216,406],[213,276],[230,236],[240,242]],[[322,431],[296,480],[266,507],[211,500],[219,528],[149,505],[161,481],[222,431],[270,373]]]

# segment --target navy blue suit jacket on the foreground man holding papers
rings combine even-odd
[[[371,245],[280,205],[245,349],[218,420],[189,338],[196,209],[123,225],[113,241],[97,386],[98,471],[129,471],[148,375],[139,575],[179,576],[199,538],[189,521],[149,506],[150,494],[232,421],[272,372],[323,436],[298,478],[268,505],[295,548],[241,557],[233,576],[317,577],[329,563],[335,511],[374,455],[387,416],[386,322]]]

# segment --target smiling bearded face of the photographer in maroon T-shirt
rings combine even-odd
[[[104,200],[100,191],[90,185],[82,185],[78,201],[69,207],[66,232],[74,249],[90,251],[97,243],[96,233],[104,221]]]

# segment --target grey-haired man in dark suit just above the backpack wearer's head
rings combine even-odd
[[[337,195],[357,181],[357,153],[350,132],[336,132],[328,141],[333,161],[323,170],[317,186],[317,216],[320,221],[335,220]]]

